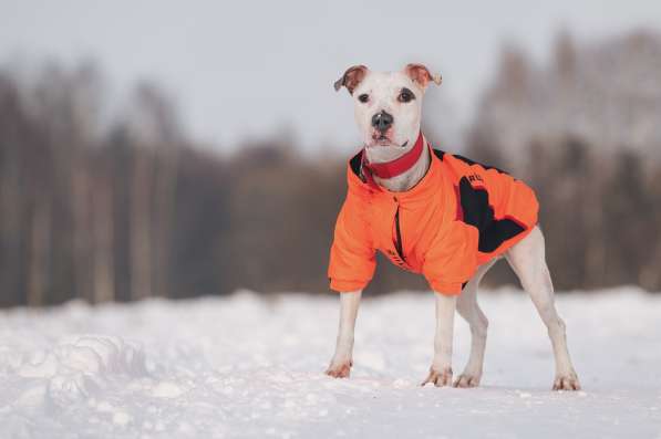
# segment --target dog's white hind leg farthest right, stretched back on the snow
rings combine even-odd
[[[539,316],[546,324],[556,358],[554,390],[578,390],[580,385],[569,358],[565,322],[556,311],[554,285],[546,264],[544,236],[536,227],[506,253],[507,262],[521,286],[530,294]]]

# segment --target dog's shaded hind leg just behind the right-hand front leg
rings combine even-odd
[[[479,266],[457,299],[457,312],[471,326],[471,355],[464,372],[454,381],[454,387],[477,387],[482,378],[488,321],[477,304],[477,288],[495,262],[494,259]]]

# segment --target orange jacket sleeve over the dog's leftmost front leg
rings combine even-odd
[[[335,222],[328,276],[330,289],[337,292],[364,289],[372,280],[376,268],[374,248],[365,221],[358,209],[359,202],[349,192]]]

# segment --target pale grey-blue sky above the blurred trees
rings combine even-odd
[[[351,101],[332,83],[353,64],[443,74],[428,101],[469,122],[504,43],[544,62],[561,29],[591,42],[661,29],[661,1],[0,0],[0,64],[99,62],[122,96],[152,80],[194,138],[220,150],[290,132],[308,150],[353,148]]]

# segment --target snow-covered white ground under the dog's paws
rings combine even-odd
[[[520,292],[482,294],[483,387],[419,387],[433,295],[364,300],[348,380],[322,375],[337,297],[0,312],[1,438],[661,438],[661,296],[558,297],[583,391],[552,393],[546,331]],[[455,374],[469,334],[457,318]]]

